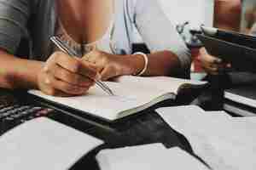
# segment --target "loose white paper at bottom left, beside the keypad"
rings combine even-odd
[[[64,170],[102,141],[48,118],[25,122],[0,137],[4,170]]]

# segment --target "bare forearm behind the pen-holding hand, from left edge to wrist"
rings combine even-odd
[[[1,88],[38,88],[37,76],[43,62],[19,59],[1,51],[0,63]]]

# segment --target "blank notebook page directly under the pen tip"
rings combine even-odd
[[[97,86],[90,88],[88,93],[83,96],[68,98],[49,96],[38,90],[30,90],[29,93],[96,116],[107,117],[110,120],[115,119],[121,111],[137,108],[137,106],[148,103],[158,94],[164,94],[160,90],[133,88],[117,82],[106,82],[106,84],[113,90],[114,96],[106,94]]]

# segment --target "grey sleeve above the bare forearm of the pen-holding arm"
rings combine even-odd
[[[0,48],[15,54],[20,38],[26,36],[26,23],[33,0],[0,0]]]

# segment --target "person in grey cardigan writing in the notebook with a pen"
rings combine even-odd
[[[155,0],[0,0],[0,8],[2,88],[73,96],[99,79],[185,75],[189,70],[189,50]],[[134,26],[150,54],[132,54]],[[62,53],[50,43],[52,36],[79,56]],[[19,58],[24,37],[31,53]]]

